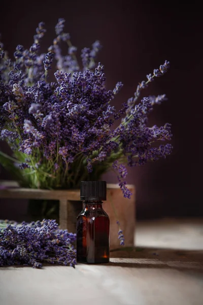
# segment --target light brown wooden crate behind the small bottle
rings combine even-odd
[[[103,207],[110,218],[110,245],[111,248],[120,245],[118,239],[117,218],[112,209],[113,202],[125,235],[125,245],[132,246],[134,243],[135,228],[135,189],[130,185],[132,198],[123,198],[118,185],[107,184],[107,201]],[[0,198],[10,199],[48,199],[59,201],[59,227],[69,232],[76,232],[76,218],[82,210],[83,204],[80,201],[80,190],[40,190],[27,188],[8,188],[0,190]]]

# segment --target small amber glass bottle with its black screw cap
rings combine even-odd
[[[81,181],[84,208],[77,217],[77,261],[109,262],[109,216],[103,209],[107,198],[106,181]]]

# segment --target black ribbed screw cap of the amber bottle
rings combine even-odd
[[[80,199],[85,201],[107,200],[107,182],[81,181]]]

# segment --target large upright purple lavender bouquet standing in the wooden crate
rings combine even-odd
[[[82,69],[64,19],[55,26],[56,38],[46,54],[40,43],[43,22],[29,50],[16,47],[14,60],[0,50],[0,132],[13,156],[0,152],[0,162],[16,174],[21,186],[41,189],[78,188],[81,180],[98,180],[110,168],[116,171],[124,197],[130,198],[125,177],[128,166],[165,158],[172,151],[171,125],[147,127],[148,114],[165,95],[143,98],[141,90],[168,69],[165,61],[147,80],[138,84],[134,96],[120,110],[111,105],[122,83],[105,87],[104,66],[95,58],[99,41],[81,52]],[[62,54],[65,43],[68,53]],[[52,78],[50,69],[56,65]],[[115,120],[120,124],[114,128]]]

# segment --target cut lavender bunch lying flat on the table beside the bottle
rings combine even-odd
[[[76,234],[58,229],[55,220],[7,223],[5,228],[0,226],[0,266],[42,268],[48,263],[75,267],[75,240]]]

